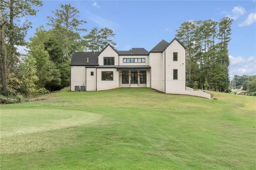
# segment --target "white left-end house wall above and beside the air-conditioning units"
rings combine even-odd
[[[85,67],[71,66],[71,91],[75,91],[75,86],[85,85]]]

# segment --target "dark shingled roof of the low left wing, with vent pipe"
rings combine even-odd
[[[98,66],[98,55],[99,52],[74,52],[70,66]]]

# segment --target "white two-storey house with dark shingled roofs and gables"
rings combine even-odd
[[[107,45],[101,52],[74,52],[71,91],[100,91],[118,87],[150,87],[164,93],[211,98],[186,87],[186,47],[174,38],[151,51],[118,51]]]

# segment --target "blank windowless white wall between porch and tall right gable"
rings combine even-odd
[[[163,76],[163,54],[150,53],[149,66],[151,66],[151,88],[163,92],[164,76]]]

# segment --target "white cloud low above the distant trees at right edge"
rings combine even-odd
[[[229,75],[255,75],[256,74],[256,61],[254,56],[242,57],[229,55],[230,66]]]

